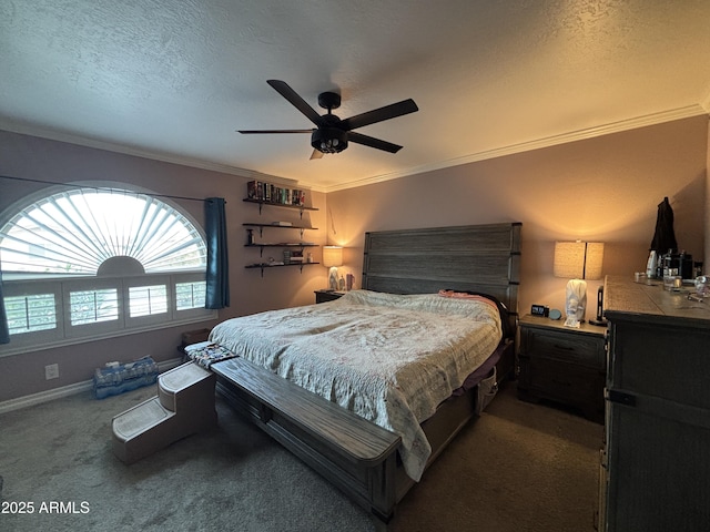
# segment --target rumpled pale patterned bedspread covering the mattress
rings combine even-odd
[[[416,481],[432,453],[419,423],[490,356],[500,338],[493,304],[367,290],[230,319],[210,336],[399,434],[405,470]]]

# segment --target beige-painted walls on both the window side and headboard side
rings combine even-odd
[[[554,242],[606,242],[605,273],[632,275],[645,269],[657,205],[665,196],[674,209],[679,245],[694,257],[706,255],[710,248],[710,231],[703,229],[703,225],[710,227],[706,200],[708,133],[707,116],[699,116],[333,192],[327,197],[313,193],[313,205],[320,211],[304,216],[320,229],[307,238],[347,246],[345,269],[359,279],[367,231],[523,222],[520,310],[527,311],[532,303],[561,309],[566,279],[552,277]],[[54,182],[124,182],[161,194],[226,198],[232,306],[220,311],[220,319],[311,304],[313,290],[326,284],[322,266],[304,268],[302,274],[297,268],[275,268],[266,270],[263,278],[257,270],[243,268],[257,260],[257,252],[243,247],[242,224],[258,221],[257,207],[242,201],[251,177],[1,131],[0,175]],[[44,186],[0,180],[0,213]],[[201,202],[175,202],[202,223]],[[265,212],[263,219],[290,221],[297,216],[297,212]],[[320,249],[314,254],[320,259]],[[594,311],[597,286],[594,282],[589,286],[592,310],[588,316]],[[109,360],[143,355],[152,355],[158,361],[172,359],[178,356],[175,347],[184,330],[210,325],[0,357],[0,402],[89,380],[94,368]],[[60,364],[60,379],[47,381],[44,366],[54,362]]]

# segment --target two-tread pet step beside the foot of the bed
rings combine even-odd
[[[113,452],[133,463],[171,443],[216,424],[216,377],[193,362],[158,379],[159,395],[115,416]]]

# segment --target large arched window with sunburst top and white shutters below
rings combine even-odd
[[[61,190],[0,224],[10,329],[0,354],[214,317],[203,233],[156,197]]]

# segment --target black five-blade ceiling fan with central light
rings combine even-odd
[[[313,122],[316,127],[310,130],[239,130],[239,132],[244,134],[311,133],[311,145],[314,149],[311,158],[321,158],[324,153],[339,153],[347,147],[348,142],[363,144],[389,153],[397,153],[402,150],[402,146],[373,136],[363,135],[362,133],[355,133],[352,130],[376,122],[396,119],[397,116],[414,113],[419,110],[417,104],[414,103],[414,100],[409,99],[341,120],[332,113],[334,109],[341,106],[341,95],[335,92],[322,92],[318,94],[318,105],[328,111],[326,114],[320,115],[296,91],[288,86],[287,83],[278,80],[267,80],[266,83],[288,100],[291,104]]]

